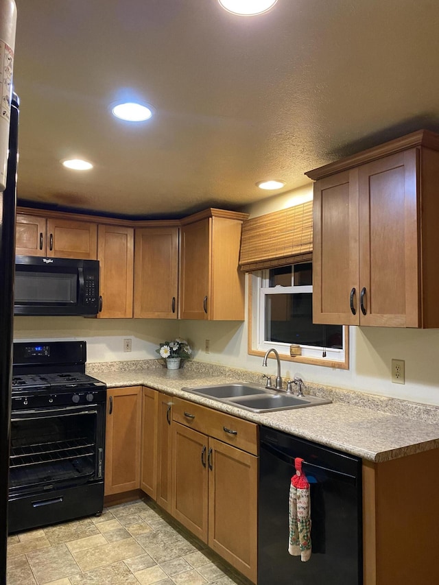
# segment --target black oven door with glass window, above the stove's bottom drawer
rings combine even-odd
[[[10,499],[104,477],[104,407],[13,411]]]

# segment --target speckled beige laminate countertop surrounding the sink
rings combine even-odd
[[[305,394],[324,396],[333,403],[255,414],[182,390],[226,381],[261,383],[261,374],[246,370],[201,362],[167,370],[161,360],[145,360],[91,363],[87,373],[109,388],[145,385],[374,462],[439,448],[439,407],[435,406],[307,385]]]

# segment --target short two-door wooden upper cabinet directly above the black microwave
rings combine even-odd
[[[17,213],[16,254],[95,260],[97,226],[92,222]]]

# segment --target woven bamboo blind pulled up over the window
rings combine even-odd
[[[244,222],[239,265],[244,272],[311,261],[313,202]]]

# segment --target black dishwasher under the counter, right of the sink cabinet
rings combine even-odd
[[[261,427],[258,585],[361,585],[361,459]],[[289,486],[295,457],[309,481],[311,558],[291,556]]]

